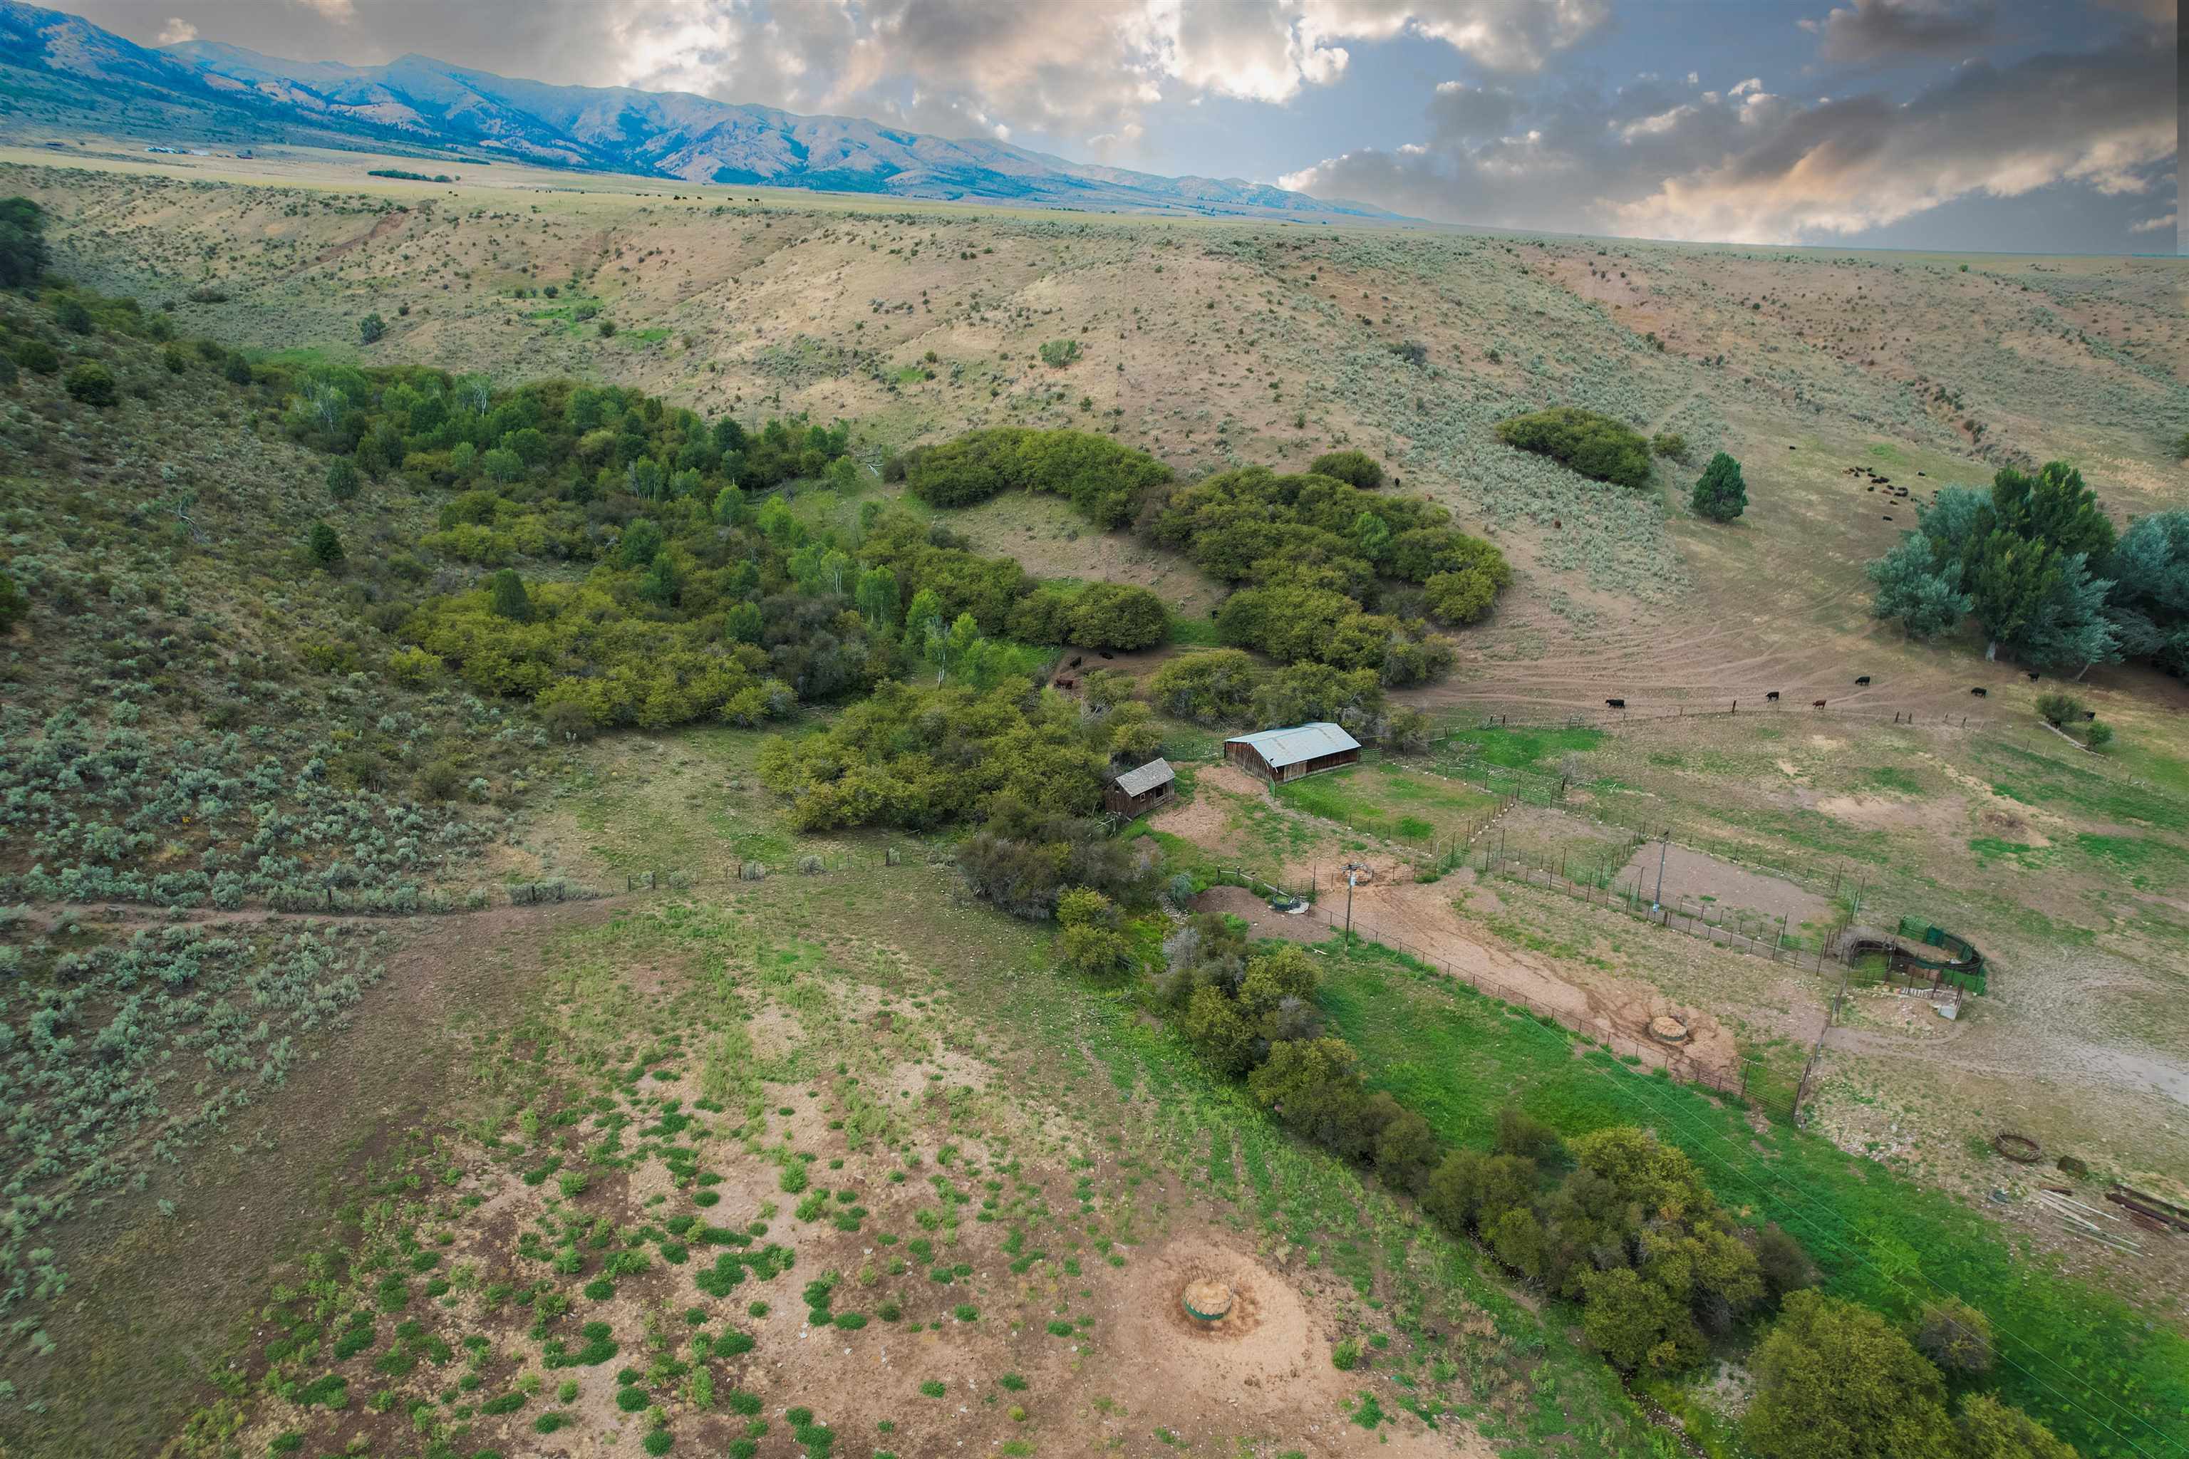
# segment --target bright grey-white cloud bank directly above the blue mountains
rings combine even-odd
[[[72,0],[149,39],[144,0]],[[1528,74],[1609,0],[195,0],[197,31],[370,66],[436,55],[510,77],[683,90],[946,136],[1130,149],[1156,103],[1287,103],[1392,37]]]

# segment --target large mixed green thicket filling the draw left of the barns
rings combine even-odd
[[[383,479],[447,490],[418,547],[503,569],[414,604],[392,667],[530,698],[567,733],[755,724],[926,669],[1024,682],[1022,643],[1147,647],[1167,632],[1145,588],[1040,588],[1016,560],[880,501],[810,525],[784,488],[860,488],[843,422],[746,431],[630,389],[503,392],[414,367],[311,370],[289,381],[282,420],[331,455],[335,503]],[[341,564],[333,525],[309,556]]]

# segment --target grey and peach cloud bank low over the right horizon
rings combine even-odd
[[[1565,92],[1515,103],[1497,136],[1458,133],[1432,103],[1425,147],[1357,151],[1283,182],[1447,221],[1740,243],[1848,236],[2055,184],[2141,195],[2176,151],[2169,52],[2132,39],[1974,63],[1907,103],[1799,103],[1760,81],[1699,96]]]

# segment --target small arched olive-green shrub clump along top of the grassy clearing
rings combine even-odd
[[[1088,431],[992,427],[939,446],[915,446],[889,466],[915,497],[937,507],[968,507],[1000,492],[1053,492],[1097,527],[1123,527],[1140,499],[1171,481],[1171,468]]]

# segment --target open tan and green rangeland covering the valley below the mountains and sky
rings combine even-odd
[[[379,162],[0,155],[55,273],[138,300],[83,328],[72,295],[4,302],[0,567],[31,586],[0,645],[9,1452],[1745,1455],[1764,1317],[1699,1304],[1701,1350],[1622,1382],[1602,1308],[1530,1275],[1534,1227],[1453,1229],[1425,1175],[1532,1151],[1572,1218],[1574,1151],[1629,1129],[1830,1295],[1981,1312],[1985,1391],[2082,1452],[2185,1452],[2189,1234],[2106,1192],[2189,1205],[2189,691],[1909,643],[1863,577],[2003,464],[2073,459],[2117,521],[2180,505],[2176,260]],[[50,341],[66,374],[22,348]],[[683,409],[845,431],[766,505],[563,481],[517,416],[532,457],[390,427],[361,481],[320,440],[363,420],[328,381],[381,365],[490,376],[355,376],[420,440],[458,396],[576,378],[547,398],[595,411],[558,437],[589,466],[652,462]],[[1626,490],[1495,437],[1552,402],[1686,444]],[[1224,580],[1130,514],[900,481],[994,424],[1184,481],[1357,448],[1515,580],[1388,696],[1421,735],[1272,792],[1219,750],[1252,700],[1151,702],[1217,643]],[[676,427],[714,470],[707,442]],[[1736,523],[1683,503],[1714,451],[1745,462]],[[900,626],[895,580],[854,599],[878,538],[1147,588],[1160,634]],[[523,663],[462,637],[558,608],[582,630]],[[646,647],[589,658],[611,643]],[[628,689],[650,663],[685,667]],[[681,709],[725,665],[744,693]],[[862,717],[895,680],[983,724],[972,696],[1016,682],[1009,713],[1049,717],[919,739]],[[2060,687],[2104,752],[2040,717]],[[1165,755],[1178,798],[1092,847],[1014,862],[941,779],[1027,757],[1040,792],[1070,763],[1038,750],[1112,724],[1101,755]],[[849,809],[814,763],[852,750],[781,759],[838,731],[902,752]],[[1020,840],[1035,809],[1007,807]],[[1062,864],[1136,901],[1062,932],[1055,895],[1005,910]],[[1985,991],[1834,956],[1902,923],[1977,945]],[[1298,982],[1230,1037],[1250,967]],[[1263,1078],[1311,1035],[1414,1148]]]

